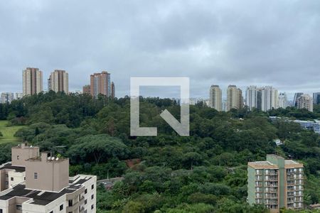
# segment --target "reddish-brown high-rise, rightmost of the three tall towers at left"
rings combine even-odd
[[[101,73],[95,73],[91,75],[90,93],[92,97],[97,97],[99,94],[103,94],[107,97],[114,97],[114,93],[112,93],[110,73],[103,71]]]

